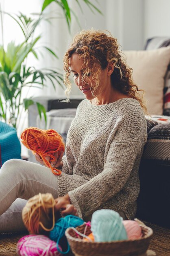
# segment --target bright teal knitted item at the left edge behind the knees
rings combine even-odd
[[[0,168],[12,158],[21,159],[21,144],[15,128],[0,121]]]

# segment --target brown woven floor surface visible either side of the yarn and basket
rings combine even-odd
[[[149,249],[157,256],[170,256],[170,229],[159,227],[148,222],[144,223],[153,229]],[[0,234],[0,256],[16,256],[17,241],[26,234]]]

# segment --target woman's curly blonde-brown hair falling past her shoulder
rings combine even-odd
[[[64,56],[64,83],[67,87],[65,94],[68,97],[66,101],[69,101],[69,94],[71,90],[70,76],[70,58],[72,54],[76,53],[83,59],[83,76],[82,81],[90,78],[93,84],[93,94],[99,86],[99,74],[100,68],[104,70],[109,62],[113,62],[114,70],[111,74],[111,84],[119,92],[130,96],[133,99],[139,101],[140,105],[146,112],[146,106],[143,99],[143,90],[139,90],[137,85],[134,84],[132,79],[132,68],[128,67],[124,62],[120,45],[116,38],[113,38],[109,31],[100,30],[82,30],[77,34],[69,49]],[[92,86],[91,84],[91,86]],[[143,92],[139,94],[139,91]]]

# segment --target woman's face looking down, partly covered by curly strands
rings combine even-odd
[[[102,70],[100,68],[100,73],[98,74],[99,86],[94,92],[95,95],[93,95],[92,94],[93,80],[90,77],[90,73],[89,73],[87,75],[87,78],[84,79],[85,81],[82,81],[82,76],[83,76],[82,66],[83,66],[83,59],[80,58],[78,56],[78,54],[76,54],[76,53],[72,54],[72,56],[70,58],[70,68],[71,68],[71,72],[73,74],[74,83],[83,92],[86,99],[91,100],[91,99],[94,99],[95,97],[97,97],[99,94],[101,94],[105,90],[105,87],[107,86],[107,79],[108,79],[107,71]]]

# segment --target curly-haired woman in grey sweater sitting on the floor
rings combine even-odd
[[[65,156],[56,154],[51,163],[62,174],[55,176],[39,155],[42,166],[18,159],[5,162],[0,169],[0,232],[22,229],[25,201],[16,199],[28,200],[39,192],[52,193],[55,209],[63,215],[87,220],[97,209],[113,209],[124,219],[135,217],[147,129],[146,108],[131,68],[122,60],[115,38],[87,30],[74,38],[64,56],[64,70],[68,99],[71,72],[86,99],[68,131]]]

